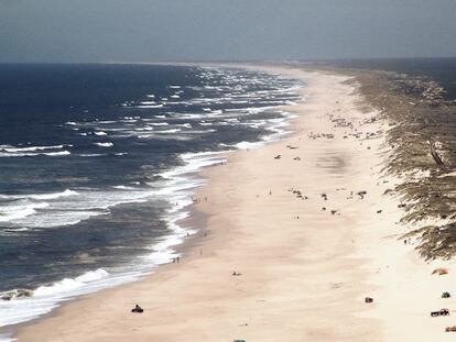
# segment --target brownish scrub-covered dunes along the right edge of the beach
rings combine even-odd
[[[392,153],[384,170],[402,179],[394,194],[406,203],[401,222],[410,230],[401,239],[415,239],[426,260],[450,258],[456,255],[455,103],[444,100],[444,90],[424,78],[352,73],[360,91],[390,122],[387,141]]]

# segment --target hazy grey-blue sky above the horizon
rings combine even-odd
[[[456,56],[456,0],[0,0],[0,62]]]

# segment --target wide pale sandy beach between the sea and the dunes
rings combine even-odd
[[[397,241],[399,199],[382,195],[393,181],[383,183],[380,175],[388,153],[383,136],[350,135],[388,125],[370,122],[376,112],[360,110],[362,99],[356,86],[344,82],[346,77],[274,71],[308,85],[306,100],[293,108],[300,113],[295,133],[261,148],[230,153],[226,165],[204,170],[210,181],[198,190],[203,200],[196,210],[207,216],[207,236],[180,264],[21,326],[19,341],[450,338],[443,332],[450,318],[428,317],[430,310],[439,309],[442,290],[455,288],[444,283],[450,277],[432,277],[434,265],[423,267],[412,247]],[[337,126],[329,115],[354,128]],[[311,132],[335,137],[310,139]],[[367,191],[363,199],[356,195],[360,190]],[[241,275],[232,276],[234,271]],[[366,305],[366,296],[374,302]],[[137,302],[144,313],[130,313]]]

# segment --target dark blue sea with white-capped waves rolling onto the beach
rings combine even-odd
[[[279,106],[301,86],[239,69],[0,65],[0,326],[169,262],[198,229],[176,224],[204,181],[192,174],[284,134]]]

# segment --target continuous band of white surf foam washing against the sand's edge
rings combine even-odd
[[[150,245],[150,253],[140,256],[139,264],[138,261],[134,262],[134,266],[122,273],[110,274],[104,268],[89,271],[75,278],[64,278],[51,285],[40,286],[33,291],[32,297],[17,298],[9,301],[0,300],[0,312],[2,312],[0,327],[29,321],[48,313],[61,302],[76,296],[133,282],[145,274],[150,274],[158,265],[170,263],[173,257],[178,256],[172,247],[181,244],[185,236],[196,232],[192,228],[182,228],[178,221],[189,216],[189,212],[184,209],[193,203],[194,188],[205,183],[203,179],[192,178],[192,174],[203,167],[225,162],[226,158],[222,154],[221,152],[184,154],[182,155],[185,163],[183,166],[161,174],[164,179],[163,186],[148,194],[148,196],[170,202],[170,208],[164,216],[170,233]],[[130,191],[132,189],[127,186],[117,186],[116,188]]]

